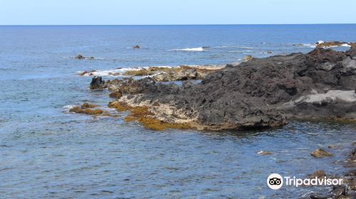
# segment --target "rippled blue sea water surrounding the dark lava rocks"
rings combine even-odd
[[[105,108],[110,101],[108,91],[88,90],[90,77],[78,71],[238,63],[245,55],[307,53],[317,41],[355,42],[355,32],[355,24],[0,26],[0,198],[323,193],[325,188],[315,187],[270,190],[266,178],[347,171],[337,161],[356,141],[355,124],[292,121],[263,131],[150,131],[120,117],[69,114],[68,106],[90,102]],[[75,60],[78,54],[95,60]],[[333,157],[310,156],[329,144],[340,146],[329,149]]]

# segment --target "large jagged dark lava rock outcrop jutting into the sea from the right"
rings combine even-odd
[[[105,82],[123,94],[110,107],[145,107],[137,121],[200,130],[277,127],[291,118],[355,119],[355,85],[356,48],[252,58],[211,72],[197,85],[164,85],[150,77]]]

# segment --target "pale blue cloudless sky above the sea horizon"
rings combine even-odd
[[[0,0],[0,25],[356,23],[356,0]]]

